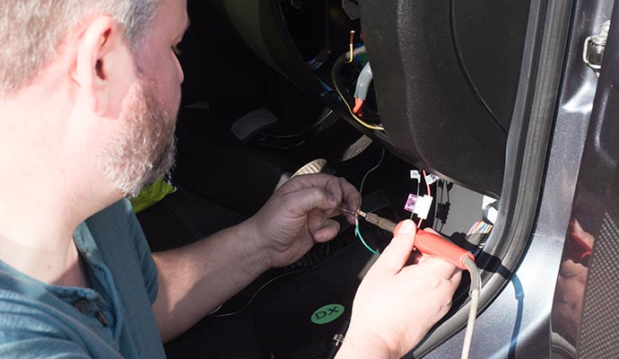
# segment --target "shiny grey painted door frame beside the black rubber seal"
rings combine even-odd
[[[545,185],[531,245],[510,284],[479,315],[471,358],[550,356],[550,312],[562,244],[587,134],[597,77],[581,62],[582,39],[594,33],[612,10],[612,1],[577,2]],[[427,355],[458,358],[464,330]]]

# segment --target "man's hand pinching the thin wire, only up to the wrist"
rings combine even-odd
[[[265,249],[268,267],[294,263],[315,242],[330,241],[339,232],[337,206],[356,209],[359,192],[346,180],[327,174],[302,175],[287,181],[250,219],[256,240]],[[354,216],[347,215],[354,223]]]

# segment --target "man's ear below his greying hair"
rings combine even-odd
[[[88,22],[77,40],[72,76],[95,112],[119,109],[115,101],[118,83],[112,81],[126,79],[131,65],[130,51],[118,23],[106,15]]]

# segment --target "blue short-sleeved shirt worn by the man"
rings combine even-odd
[[[48,285],[0,261],[0,357],[163,358],[157,268],[125,199],[74,233],[91,288]]]

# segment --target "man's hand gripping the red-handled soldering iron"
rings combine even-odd
[[[461,273],[413,252],[415,232],[405,221],[363,278],[337,358],[399,358],[449,311]]]

